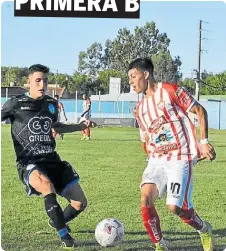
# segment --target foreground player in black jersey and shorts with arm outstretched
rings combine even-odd
[[[10,119],[17,170],[28,195],[42,195],[49,224],[56,228],[62,245],[73,248],[74,240],[67,223],[87,206],[79,185],[79,175],[55,151],[52,128],[57,133],[81,131],[93,125],[90,121],[65,125],[58,122],[58,103],[47,95],[49,68],[32,65],[29,68],[29,92],[11,98],[2,107],[1,120]],[[69,205],[61,209],[56,194]]]

